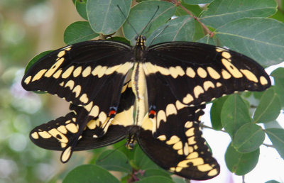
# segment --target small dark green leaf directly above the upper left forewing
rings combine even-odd
[[[66,28],[64,42],[67,45],[71,45],[85,40],[91,40],[97,36],[99,36],[99,34],[92,30],[91,26],[89,26],[89,22],[77,21]]]

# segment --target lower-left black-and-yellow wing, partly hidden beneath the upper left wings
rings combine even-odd
[[[70,145],[74,145],[72,151],[89,150],[111,145],[124,139],[128,134],[125,126],[133,124],[132,114],[135,96],[130,84],[131,82],[124,84],[121,90],[118,112],[111,121],[107,133],[102,137],[97,137],[100,126],[96,118],[89,120],[87,125],[84,126],[82,135],[77,137],[80,126],[84,125],[82,124],[84,119],[81,119],[80,116],[87,116],[87,111],[82,106],[71,105],[72,112],[66,116],[35,127],[30,133],[31,140],[40,148],[62,150],[64,153]],[[71,154],[72,152],[66,158],[61,157],[61,160],[63,158],[62,162],[67,162]]]

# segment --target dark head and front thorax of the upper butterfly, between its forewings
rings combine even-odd
[[[139,35],[136,38],[136,45],[133,48],[134,52],[134,62],[144,62],[145,60],[145,50],[146,50],[146,38],[142,35]]]

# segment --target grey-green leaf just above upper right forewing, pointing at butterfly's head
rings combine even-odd
[[[155,45],[170,41],[192,41],[194,34],[194,19],[190,16],[181,16],[157,28],[148,37],[146,45],[150,45],[150,43],[151,45]]]

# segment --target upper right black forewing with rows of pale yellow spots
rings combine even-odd
[[[148,48],[147,76],[156,74],[183,104],[198,106],[234,91],[271,86],[265,70],[238,52],[202,43],[161,43]]]

